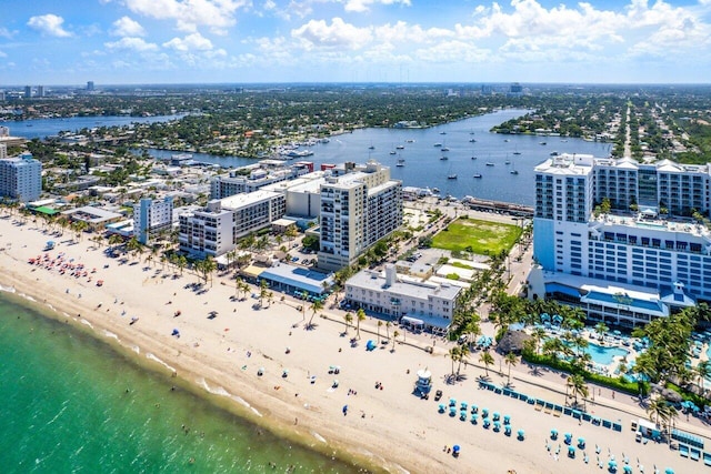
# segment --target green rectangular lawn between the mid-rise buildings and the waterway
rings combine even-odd
[[[434,235],[432,246],[450,251],[495,255],[511,250],[521,235],[521,228],[500,222],[460,218]]]

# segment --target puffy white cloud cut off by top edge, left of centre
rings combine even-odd
[[[174,20],[179,30],[196,31],[204,26],[223,33],[236,22],[237,10],[250,0],[124,0],[133,12],[158,20]]]

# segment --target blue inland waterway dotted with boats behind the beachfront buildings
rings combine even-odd
[[[489,132],[493,125],[523,113],[524,110],[504,110],[431,129],[357,130],[332,137],[329,143],[306,148],[313,151],[313,155],[303,160],[320,165],[347,161],[362,163],[373,159],[391,167],[392,178],[402,180],[405,186],[438,188],[442,195],[451,194],[460,199],[471,195],[533,205],[533,168],[550,158],[551,152],[590,153],[601,158],[610,153],[609,143]],[[442,132],[445,134],[441,134]],[[472,139],[475,142],[470,142]],[[542,142],[545,144],[541,144]],[[441,143],[442,147],[434,147],[435,143]],[[373,150],[370,150],[371,145]],[[398,150],[398,145],[404,149]],[[442,151],[442,148],[449,148],[449,151]],[[395,151],[395,154],[390,154],[391,151]],[[154,157],[169,157],[173,153],[151,150]],[[204,153],[192,155],[197,161],[226,168],[254,163],[254,160],[244,158]],[[448,160],[440,160],[442,155],[447,155]],[[477,159],[472,160],[472,157]],[[404,167],[397,167],[399,159],[404,160]],[[493,163],[493,167],[488,167],[487,162]],[[512,170],[519,174],[511,174]],[[480,173],[482,178],[473,178],[474,173]],[[450,174],[457,174],[457,179],[448,179]]]

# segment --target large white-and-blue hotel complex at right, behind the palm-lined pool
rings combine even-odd
[[[709,165],[583,154],[541,163],[533,219],[540,271],[529,278],[532,295],[622,325],[711,301],[711,232],[690,218],[708,214],[710,186]],[[612,212],[595,216],[604,198]]]

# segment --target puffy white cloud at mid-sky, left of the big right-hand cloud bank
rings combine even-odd
[[[311,20],[292,30],[291,37],[300,40],[306,50],[313,48],[356,50],[372,40],[372,32],[370,28],[358,28],[337,17],[331,20],[330,26],[324,20]]]

